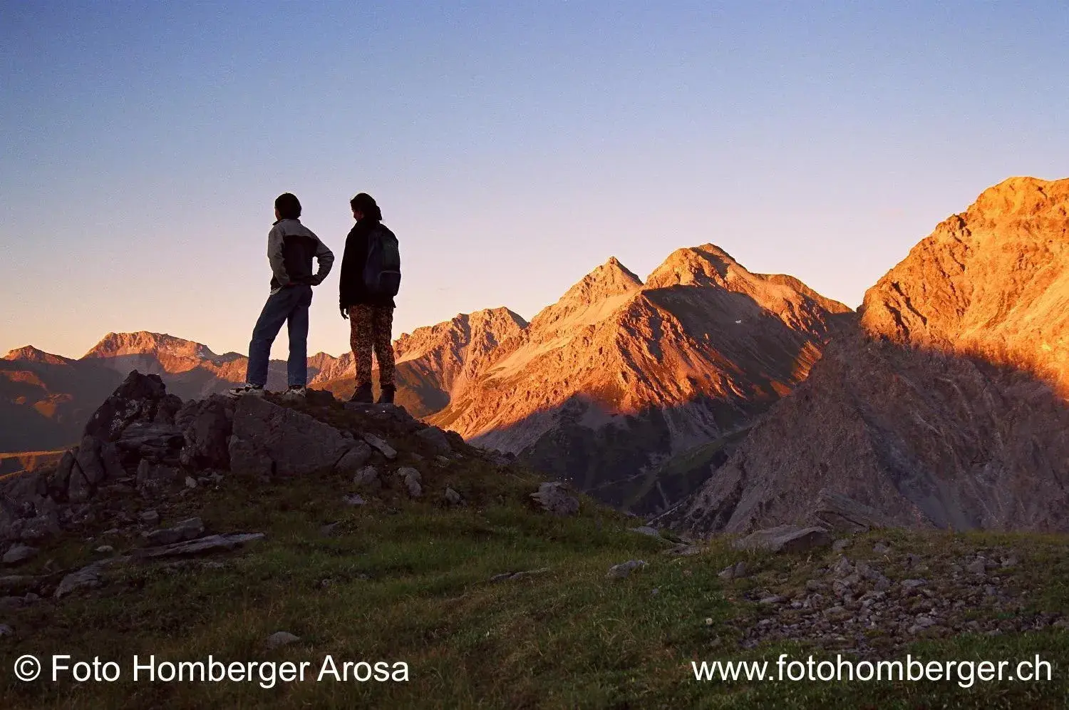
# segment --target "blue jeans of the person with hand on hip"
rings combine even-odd
[[[263,387],[267,384],[267,362],[275,337],[289,325],[290,359],[286,364],[286,379],[291,387],[308,384],[308,307],[312,305],[312,287],[307,283],[281,289],[267,297],[260,311],[257,325],[249,341],[249,368],[245,381]]]

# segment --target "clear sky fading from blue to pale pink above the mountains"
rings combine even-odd
[[[0,3],[0,351],[247,352],[286,190],[339,259],[376,197],[394,336],[704,242],[856,306],[983,188],[1069,175],[1067,36],[1059,1]]]

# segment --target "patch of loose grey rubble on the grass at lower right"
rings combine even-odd
[[[1059,611],[1029,608],[1033,600],[1014,571],[1012,547],[947,545],[917,554],[886,540],[835,543],[825,564],[803,567],[780,584],[745,591],[758,620],[741,629],[741,645],[804,640],[828,650],[885,658],[918,639],[974,633],[995,636],[1049,627],[1065,629]],[[807,576],[799,584],[799,573]],[[745,576],[729,567],[727,582]]]

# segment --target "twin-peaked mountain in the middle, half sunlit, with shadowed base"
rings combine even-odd
[[[842,304],[711,244],[677,250],[646,283],[609,259],[493,350],[430,421],[654,510],[708,467],[662,474],[733,444],[806,377],[840,318],[852,318]]]

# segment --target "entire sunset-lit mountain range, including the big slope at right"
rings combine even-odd
[[[694,532],[845,507],[898,525],[1062,529],[1067,212],[1069,180],[995,185],[856,313],[713,244],[673,251],[645,280],[613,258],[529,323],[495,308],[402,335],[397,401]],[[151,333],[108,334],[78,359],[13,351],[0,451],[69,445],[131,369],[187,399],[239,383],[245,366]],[[352,354],[309,367],[312,387],[352,392]],[[283,385],[273,361],[268,387]]]

